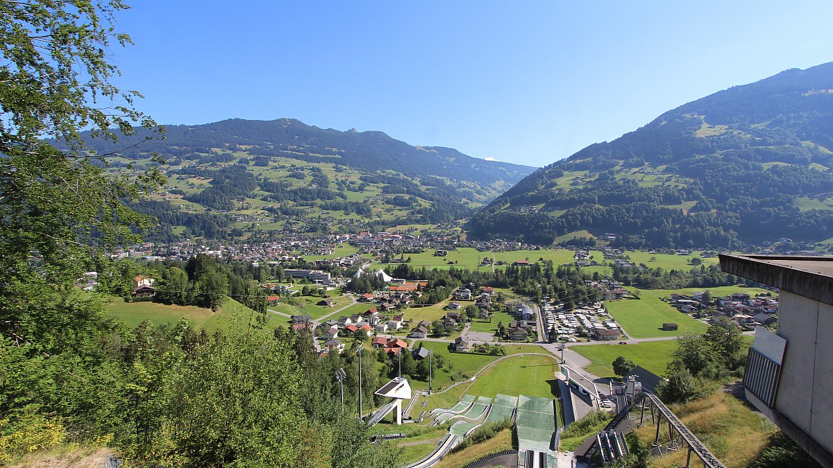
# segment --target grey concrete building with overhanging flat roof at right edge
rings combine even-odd
[[[776,333],[758,327],[746,397],[833,468],[833,258],[721,255],[721,269],[781,290]]]

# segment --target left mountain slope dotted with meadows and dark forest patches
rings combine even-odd
[[[357,232],[471,216],[532,167],[412,147],[382,132],[339,132],[292,119],[231,119],[144,128],[85,141],[112,171],[167,160],[162,192],[133,205],[161,229],[150,238],[222,238],[260,231]],[[179,229],[177,229],[179,228]]]

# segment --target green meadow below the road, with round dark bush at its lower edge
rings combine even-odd
[[[619,356],[625,356],[634,361],[637,366],[642,366],[657,376],[662,376],[666,373],[666,366],[671,362],[671,357],[676,351],[676,340],[644,341],[631,345],[571,346],[570,350],[593,361],[590,366],[586,367],[586,370],[596,376],[615,377],[613,361]]]

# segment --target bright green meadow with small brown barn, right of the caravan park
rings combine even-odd
[[[605,307],[619,325],[634,338],[678,336],[682,333],[704,333],[709,327],[702,321],[677,311],[661,301],[656,291],[642,290],[641,299],[607,301]],[[661,330],[663,323],[676,323],[677,331]]]

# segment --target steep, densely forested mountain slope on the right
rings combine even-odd
[[[471,236],[551,243],[586,230],[628,246],[833,237],[833,63],[689,102],[532,173]]]

